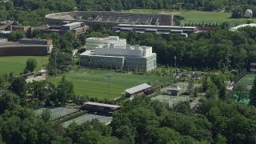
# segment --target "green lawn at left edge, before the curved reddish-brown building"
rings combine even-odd
[[[38,62],[36,71],[45,68],[48,63],[49,56],[12,56],[0,57],[0,74],[9,74],[11,71],[14,75],[20,74],[26,67],[26,60],[28,58],[35,58]]]

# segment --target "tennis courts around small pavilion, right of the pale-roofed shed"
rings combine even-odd
[[[174,106],[178,102],[188,102],[190,101],[190,96],[170,96],[170,95],[158,95],[151,100],[158,100],[159,102],[168,103],[169,106]]]

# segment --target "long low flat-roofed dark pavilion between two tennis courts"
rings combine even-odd
[[[90,111],[102,112],[107,114],[113,114],[119,109],[121,109],[121,106],[98,103],[98,102],[83,102],[83,106],[82,106],[82,110],[88,110],[89,112]]]

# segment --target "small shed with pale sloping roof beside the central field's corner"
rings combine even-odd
[[[143,94],[145,90],[150,90],[152,86],[146,83],[142,83],[141,85],[131,87],[130,89],[125,90],[126,96],[130,97],[135,94]]]

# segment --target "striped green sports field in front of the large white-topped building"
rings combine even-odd
[[[108,78],[106,74],[113,74],[110,78],[110,98],[118,98],[122,96],[124,90],[140,85],[144,82],[153,83],[156,80],[162,80],[163,77],[154,77],[138,74],[123,74],[106,70],[90,70],[80,69],[66,73],[66,78],[74,84],[75,94],[90,98],[107,98],[108,97]],[[62,75],[58,77],[47,78],[47,81],[58,84]]]

